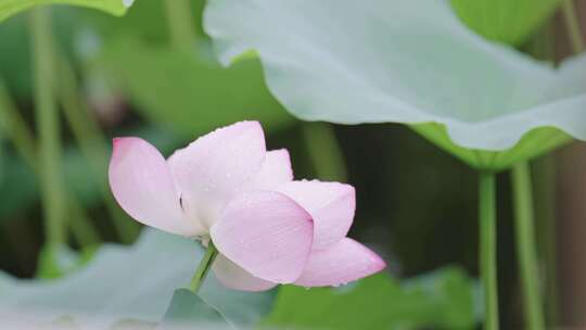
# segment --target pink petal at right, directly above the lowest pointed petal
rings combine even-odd
[[[302,205],[314,218],[314,250],[326,249],[346,234],[354,220],[354,187],[339,182],[291,181],[277,189]]]

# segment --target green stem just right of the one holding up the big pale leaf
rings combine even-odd
[[[539,268],[535,251],[535,226],[531,169],[526,162],[512,168],[517,257],[525,308],[525,326],[532,330],[545,329],[539,288]]]

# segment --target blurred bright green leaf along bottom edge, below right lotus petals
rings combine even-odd
[[[339,289],[285,287],[267,329],[473,329],[476,285],[458,268],[399,282],[381,274]]]

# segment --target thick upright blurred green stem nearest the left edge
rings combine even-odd
[[[31,13],[33,61],[35,68],[35,116],[39,137],[41,199],[46,239],[49,245],[65,244],[65,199],[61,173],[59,114],[51,90],[53,59],[51,13],[39,8]]]

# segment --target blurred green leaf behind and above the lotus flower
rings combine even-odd
[[[268,92],[258,60],[225,68],[209,53],[123,38],[106,48],[102,61],[138,111],[179,132],[193,136],[243,119],[260,120],[268,129],[293,123]]]

